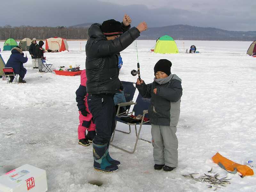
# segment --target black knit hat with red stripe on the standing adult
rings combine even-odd
[[[101,31],[108,37],[123,34],[121,23],[114,19],[104,21],[101,25]]]

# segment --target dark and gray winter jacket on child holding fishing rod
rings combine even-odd
[[[163,79],[164,80],[164,79]],[[149,122],[155,125],[177,126],[180,117],[181,79],[175,74],[166,77],[164,84],[136,84],[144,98],[150,99]],[[156,94],[153,92],[157,89]]]

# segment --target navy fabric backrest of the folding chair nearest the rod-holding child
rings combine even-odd
[[[149,105],[150,105],[150,99],[148,98],[143,98],[141,94],[139,93],[137,100],[136,100],[136,105],[133,107],[134,115],[143,115],[143,110],[148,110]],[[148,117],[148,113],[145,115],[145,117]]]

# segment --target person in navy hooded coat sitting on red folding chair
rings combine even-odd
[[[7,67],[12,67],[14,70],[14,74],[19,74],[19,83],[26,83],[26,81],[23,80],[25,77],[25,74],[27,73],[27,69],[24,68],[23,63],[26,63],[28,61],[28,57],[24,57],[24,53],[20,49],[19,46],[13,47],[11,50],[12,54],[9,58],[9,60],[6,63]],[[14,79],[14,76],[10,76],[9,82],[12,83]]]

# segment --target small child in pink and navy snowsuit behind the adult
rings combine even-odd
[[[88,146],[92,143],[94,136],[96,135],[96,125],[92,122],[92,114],[88,109],[87,104],[87,92],[86,92],[86,73],[85,69],[81,73],[81,84],[76,90],[76,102],[79,110],[79,122],[78,125],[78,144]],[[86,134],[86,129],[88,134]]]

